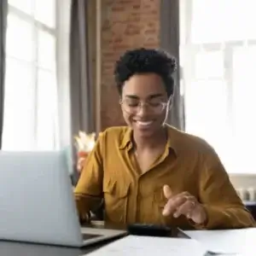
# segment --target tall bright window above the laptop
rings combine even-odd
[[[58,148],[56,0],[9,0],[3,150]]]

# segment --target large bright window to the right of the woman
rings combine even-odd
[[[212,144],[228,172],[256,173],[256,3],[180,3],[186,130]]]

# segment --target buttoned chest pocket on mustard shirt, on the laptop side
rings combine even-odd
[[[125,224],[128,212],[130,183],[108,180],[103,183],[105,220]]]

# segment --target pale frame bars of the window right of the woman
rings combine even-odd
[[[236,108],[235,108],[235,77],[234,77],[234,55],[235,50],[239,47],[256,47],[256,39],[236,39],[236,40],[225,40],[223,42],[212,42],[212,43],[194,43],[191,41],[191,19],[192,14],[192,1],[180,1],[180,56],[181,56],[181,66],[182,66],[182,77],[181,81],[184,87],[184,105],[185,110],[189,108],[189,96],[186,95],[188,91],[188,86],[191,82],[197,82],[201,79],[195,77],[195,58],[197,54],[200,54],[201,51],[212,52],[213,50],[220,50],[223,52],[223,66],[224,66],[224,76],[221,78],[226,84],[227,95],[226,95],[226,108],[228,111],[227,116],[227,125],[229,132],[235,134],[235,117],[236,117]],[[214,79],[208,78],[206,81],[212,81]],[[191,87],[189,87],[191,90]],[[185,111],[186,112],[186,111]],[[188,127],[185,129],[189,132]],[[197,134],[198,135],[198,134]],[[200,135],[199,135],[200,136]],[[256,174],[255,166],[249,166],[249,170],[228,170],[229,174],[232,175],[244,175],[244,174]]]

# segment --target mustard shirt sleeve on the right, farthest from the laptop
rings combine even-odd
[[[253,216],[237,195],[218,154],[211,148],[201,160],[200,201],[207,212],[207,221],[197,228],[235,229],[255,226]]]

